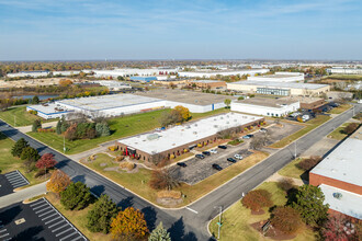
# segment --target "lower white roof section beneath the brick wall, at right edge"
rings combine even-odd
[[[362,219],[362,195],[326,184],[321,184],[319,187],[325,194],[324,204],[329,204],[330,209]],[[339,198],[335,197],[337,193],[341,194]]]

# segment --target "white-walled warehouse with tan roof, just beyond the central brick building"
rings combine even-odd
[[[282,99],[250,97],[231,102],[233,112],[242,112],[263,116],[285,116],[301,107],[299,101]]]

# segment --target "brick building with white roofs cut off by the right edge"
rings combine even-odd
[[[319,186],[325,204],[362,219],[362,127],[340,144],[309,172],[309,184]]]

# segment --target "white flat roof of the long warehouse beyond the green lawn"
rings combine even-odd
[[[124,107],[129,105],[145,104],[161,101],[155,97],[139,96],[134,94],[110,94],[92,97],[78,97],[58,101],[60,104],[87,111],[102,111],[109,108]]]

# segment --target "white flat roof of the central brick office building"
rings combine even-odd
[[[215,135],[220,130],[241,126],[257,119],[261,119],[261,117],[227,113],[193,123],[186,123],[160,133],[144,134],[121,139],[118,142],[149,154],[156,154],[190,142],[195,142],[196,140]]]

